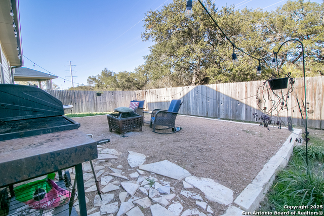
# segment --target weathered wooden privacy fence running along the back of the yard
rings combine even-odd
[[[97,96],[95,91],[52,90],[48,92],[63,104],[73,105],[74,108],[67,111],[69,113],[110,112],[116,107],[128,107],[131,100],[145,100],[146,110],[168,109],[171,100],[181,99],[183,104],[180,114],[254,121],[252,113],[261,116],[263,107],[268,111],[273,104],[279,103],[271,91],[269,94],[267,91],[262,92],[261,88],[258,91],[263,83],[264,81],[251,81],[141,91],[105,91],[101,96]],[[324,129],[323,92],[324,77],[306,77],[306,97],[309,103],[307,104],[307,126],[309,127]],[[287,94],[287,89],[282,90],[282,93],[281,90],[275,90],[274,93],[281,97],[281,94]],[[293,92],[289,94],[287,100],[287,107],[279,110],[279,116],[277,110],[270,112],[269,116],[275,121],[286,124],[287,116],[291,116],[293,124],[303,126],[297,99],[305,118],[303,78],[296,79]],[[281,106],[278,109],[281,109]]]

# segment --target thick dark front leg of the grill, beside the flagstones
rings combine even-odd
[[[86,193],[83,183],[82,163],[75,165],[76,184],[79,198],[80,216],[87,216]],[[74,180],[75,181],[75,180]]]

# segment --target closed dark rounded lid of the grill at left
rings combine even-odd
[[[0,84],[0,98],[1,121],[64,115],[62,102],[36,87]]]

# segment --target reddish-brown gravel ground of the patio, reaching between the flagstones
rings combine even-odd
[[[192,176],[213,179],[233,190],[234,200],[253,181],[263,165],[279,150],[291,134],[286,128],[278,129],[270,126],[270,132],[268,132],[266,128],[258,124],[181,115],[177,116],[176,126],[183,129],[175,134],[155,134],[149,124],[144,124],[142,132],[135,129],[132,132],[119,134],[114,131],[109,132],[105,115],[73,119],[81,124],[80,131],[94,135],[96,141],[105,138],[111,140],[110,143],[104,145],[105,148],[115,149],[121,155],[118,159],[107,160],[107,162],[110,162],[113,168],[122,165],[125,171],[124,176],[134,172],[127,162],[128,151],[134,151],[146,155],[144,164],[169,160],[188,170]],[[148,120],[149,115],[145,115],[144,121]],[[171,129],[168,131],[171,132]],[[109,170],[108,167],[105,169]],[[157,179],[164,178],[156,176]],[[164,181],[171,182],[170,185],[178,194],[183,190],[181,181],[169,178],[165,178]],[[200,192],[197,189],[191,191]],[[118,200],[118,193],[116,191],[116,200]],[[93,200],[96,192],[86,195]],[[185,203],[187,206],[184,205],[184,209],[197,207],[194,201],[185,201]],[[214,209],[215,215],[221,215],[226,211],[224,205],[212,202],[209,204]],[[93,202],[90,201],[87,209],[92,207]],[[151,215],[149,208],[144,209],[143,213]]]

